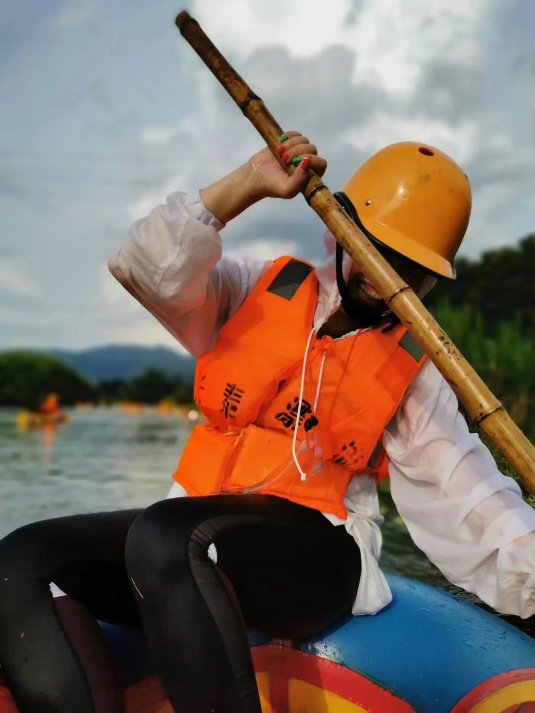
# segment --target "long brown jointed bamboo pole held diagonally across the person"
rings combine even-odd
[[[263,101],[243,81],[223,55],[208,39],[198,22],[188,12],[181,12],[175,24],[180,33],[208,69],[228,91],[243,114],[250,120],[280,161],[276,150],[280,146],[282,128],[265,107]],[[282,164],[281,164],[282,165]],[[288,173],[295,167],[282,165]],[[311,172],[303,195],[317,215],[325,222],[337,242],[365,272],[384,302],[406,325],[412,337],[429,355],[452,386],[474,422],[494,443],[518,473],[525,486],[535,494],[535,448],[514,424],[504,406],[487,388],[451,339],[433,319],[412,289],[397,275],[387,260],[375,250],[372,242],[340,207],[326,185]]]

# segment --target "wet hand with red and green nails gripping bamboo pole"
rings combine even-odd
[[[293,175],[286,173],[269,148],[255,153],[247,162],[254,191],[263,198],[293,198],[307,182],[310,170],[322,176],[327,168],[327,161],[317,155],[315,145],[298,131],[287,131],[281,136],[277,153],[286,165],[299,159]]]

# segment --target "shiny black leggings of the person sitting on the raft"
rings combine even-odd
[[[113,678],[111,662],[91,662],[84,627],[94,642],[96,619],[141,619],[177,713],[260,713],[245,626],[312,635],[350,611],[359,580],[343,526],[272,496],[45,520],[0,542],[0,664],[22,713],[119,713],[122,697],[95,692]],[[51,581],[76,600],[74,630]]]

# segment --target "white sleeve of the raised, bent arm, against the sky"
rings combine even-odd
[[[222,257],[221,223],[202,200],[168,196],[136,221],[108,267],[170,334],[200,356],[271,262]]]

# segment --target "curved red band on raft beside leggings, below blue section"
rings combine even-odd
[[[287,712],[287,681],[290,678],[325,689],[369,713],[414,713],[414,708],[394,693],[332,661],[281,645],[254,647],[251,653],[257,672],[272,672],[271,695],[277,713]],[[282,684],[286,689],[285,701],[281,695]],[[280,697],[277,698],[280,705],[275,706],[275,696]]]

